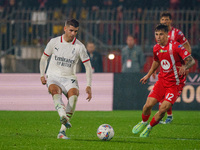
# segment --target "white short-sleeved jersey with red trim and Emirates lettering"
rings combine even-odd
[[[76,78],[76,65],[79,60],[83,63],[90,60],[85,46],[76,38],[66,42],[62,36],[52,38],[47,44],[44,54],[51,56],[47,76]]]

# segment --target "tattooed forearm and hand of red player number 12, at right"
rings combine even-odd
[[[195,60],[194,60],[194,58],[191,55],[189,55],[188,57],[186,57],[184,59],[184,61],[185,61],[185,65],[182,65],[180,67],[180,69],[179,69],[179,75],[185,75],[186,70],[190,69],[195,64]]]

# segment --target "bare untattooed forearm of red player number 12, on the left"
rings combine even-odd
[[[154,60],[149,72],[142,79],[140,79],[140,82],[142,82],[142,84],[147,83],[148,78],[150,78],[150,76],[157,70],[159,66],[160,66],[160,62]]]

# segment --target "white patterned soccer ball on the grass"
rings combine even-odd
[[[109,141],[114,136],[114,130],[109,124],[102,124],[97,129],[97,137],[103,141]]]

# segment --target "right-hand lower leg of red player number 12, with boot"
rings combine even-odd
[[[154,115],[151,122],[140,134],[140,137],[148,137],[152,128],[159,123],[159,121],[165,116],[165,113],[171,106],[172,106],[172,103],[170,103],[169,101],[163,101],[159,108],[159,111]]]

